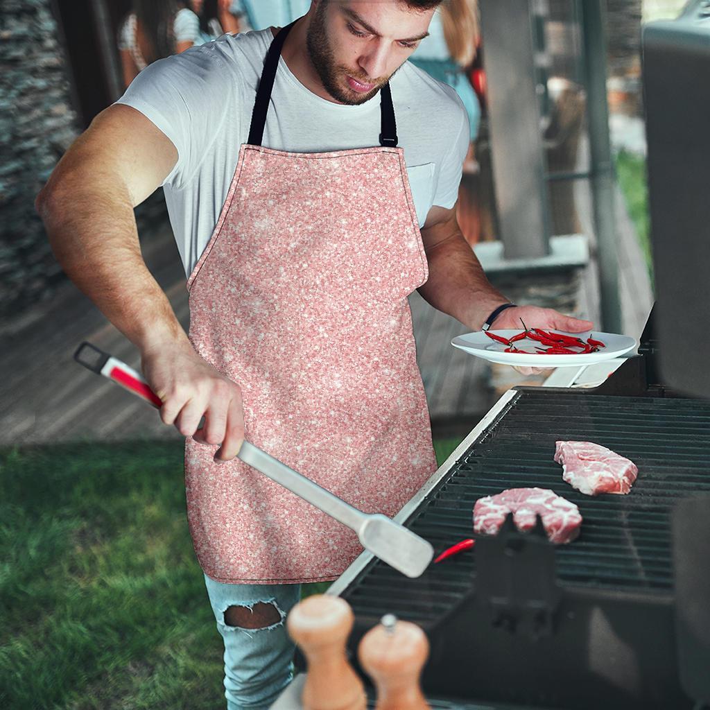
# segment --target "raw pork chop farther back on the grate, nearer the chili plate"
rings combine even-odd
[[[638,469],[633,461],[591,442],[555,442],[562,479],[586,496],[628,493]]]

